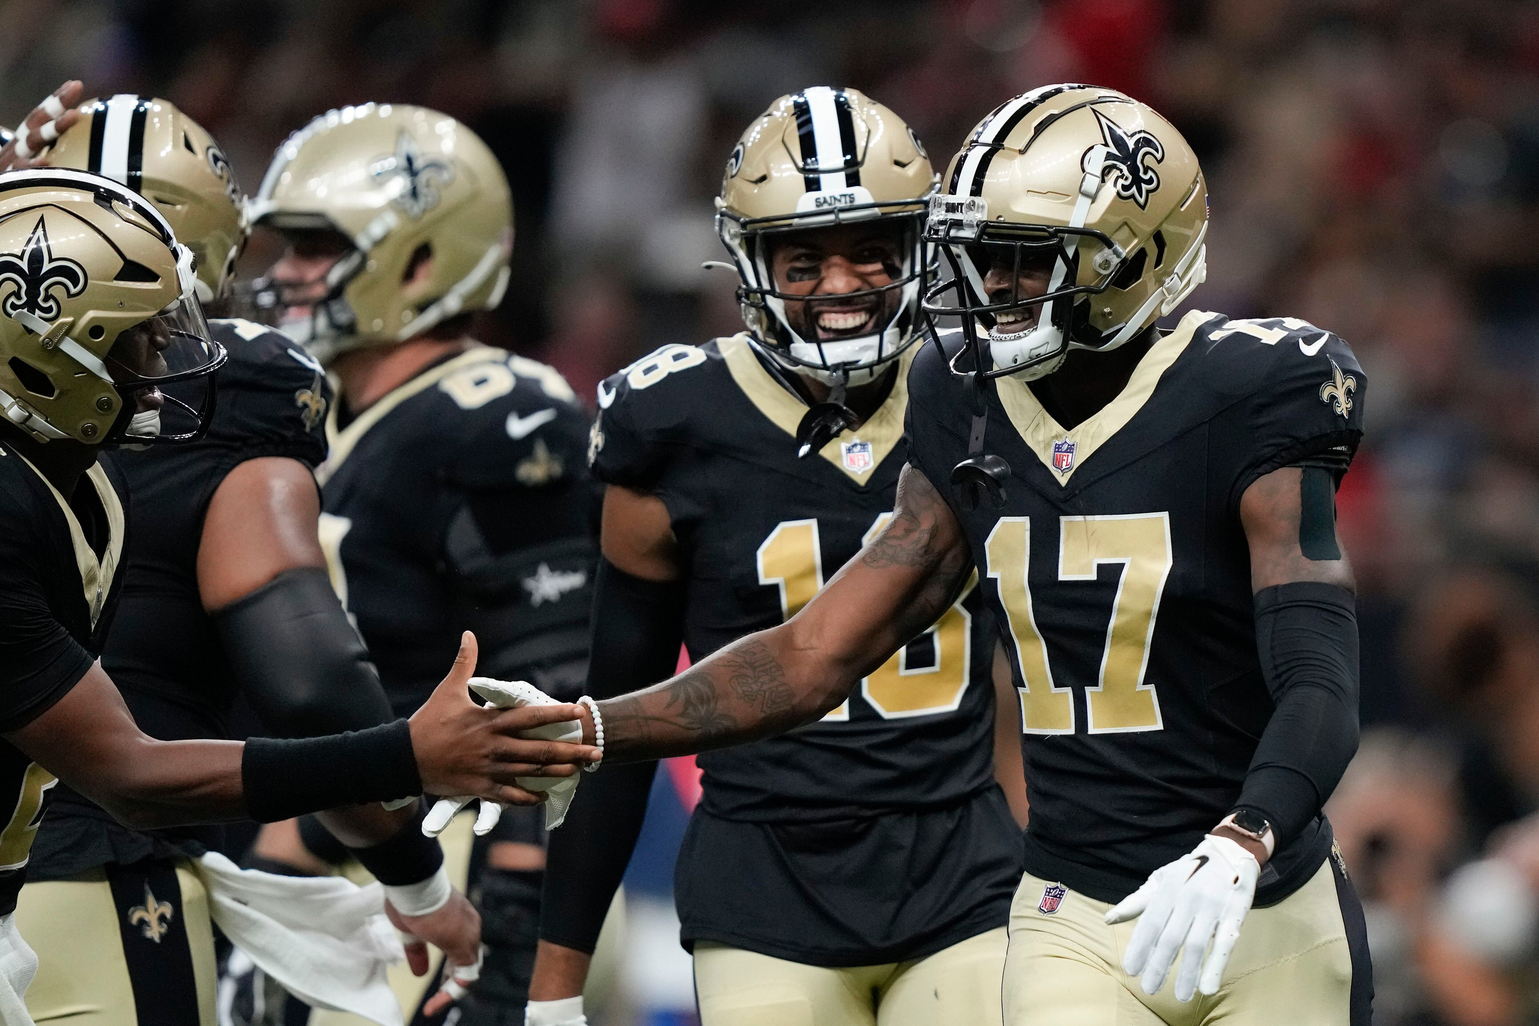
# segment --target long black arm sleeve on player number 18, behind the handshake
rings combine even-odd
[[[599,560],[588,688],[613,698],[673,675],[683,637],[682,581],[649,581]],[[605,766],[551,834],[540,940],[593,952],[642,832],[657,763]]]

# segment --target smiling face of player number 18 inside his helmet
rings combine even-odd
[[[871,289],[903,277],[902,238],[900,228],[882,223],[811,228],[776,238],[770,251],[776,289],[810,297],[785,300],[786,323],[806,341],[882,331],[897,314],[902,289]]]

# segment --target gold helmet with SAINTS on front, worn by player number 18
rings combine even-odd
[[[814,86],[780,97],[743,132],[722,177],[716,231],[733,254],[737,298],[754,340],[793,369],[860,385],[919,337],[925,281],[920,226],[936,189],[930,157],[908,125],[856,89]],[[902,231],[903,263],[890,285],[840,298],[899,291],[896,312],[874,334],[802,338],[776,288],[771,243],[785,232],[886,220]]]

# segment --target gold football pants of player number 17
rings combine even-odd
[[[1362,908],[1334,858],[1277,904],[1251,909],[1219,992],[1188,1003],[1176,1000],[1179,960],[1154,995],[1122,971],[1137,920],[1107,926],[1111,906],[1074,891],[1042,912],[1050,884],[1027,874],[1010,911],[1008,1026],[1368,1024]]]

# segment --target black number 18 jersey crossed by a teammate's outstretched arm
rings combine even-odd
[[[665,346],[600,385],[594,477],[666,505],[693,660],[796,614],[891,517],[906,369],[866,423],[805,460],[794,434],[806,405],[746,335]],[[976,592],[822,721],[702,754],[700,808],[796,821],[946,806],[991,786],[994,634]]]

